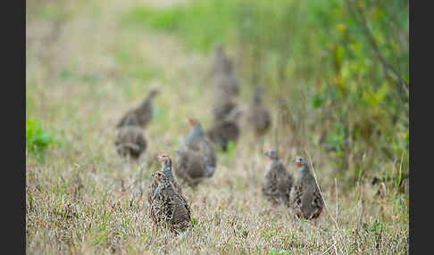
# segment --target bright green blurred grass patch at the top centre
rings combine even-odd
[[[191,48],[207,51],[233,36],[230,28],[238,2],[196,1],[188,6],[173,4],[168,8],[138,5],[125,14],[122,24],[125,27],[143,26],[174,32],[185,39]]]

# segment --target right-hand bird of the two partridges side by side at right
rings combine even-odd
[[[297,218],[318,218],[324,206],[320,189],[306,160],[297,156],[294,162],[299,171],[290,193],[291,208]]]

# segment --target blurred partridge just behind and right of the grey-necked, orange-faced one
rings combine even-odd
[[[230,141],[235,143],[238,140],[240,133],[238,119],[241,112],[239,107],[234,108],[224,119],[216,121],[213,127],[206,132],[206,135],[210,137],[215,144],[220,144],[224,152],[227,151]]]

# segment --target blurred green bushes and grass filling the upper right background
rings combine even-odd
[[[136,6],[123,24],[173,32],[199,50],[217,43],[235,48],[240,75],[251,78],[246,83],[288,91],[288,108],[299,112],[295,119],[318,114],[321,125],[312,123],[313,132],[327,134],[325,147],[346,167],[351,153],[366,151],[391,160],[404,154],[408,165],[408,124],[394,120],[408,119],[408,85],[402,83],[409,77],[408,20],[402,1],[209,0]],[[305,105],[306,98],[312,103]],[[282,125],[305,134],[294,123]],[[355,176],[362,159],[353,159]]]

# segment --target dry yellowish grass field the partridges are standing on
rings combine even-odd
[[[218,152],[212,178],[184,189],[195,225],[179,235],[154,228],[143,196],[151,173],[160,169],[155,157],[174,157],[189,117],[205,128],[212,124],[213,54],[191,50],[168,33],[123,29],[121,18],[137,4],[131,0],[69,1],[63,8],[55,3],[27,3],[26,114],[40,119],[55,141],[42,157],[26,150],[28,254],[408,253],[408,193],[371,185],[363,175],[348,187],[318,145],[316,130],[303,147],[278,145],[276,136],[294,134],[275,126],[263,148],[243,132],[234,150]],[[114,150],[114,126],[150,87],[161,93],[145,131],[148,149],[129,162]],[[249,103],[252,93],[243,87],[240,104]],[[264,102],[276,120],[271,95]],[[327,204],[320,218],[295,219],[263,198],[267,149],[279,149],[295,176],[296,155],[313,163]],[[384,164],[402,170],[399,162]]]

